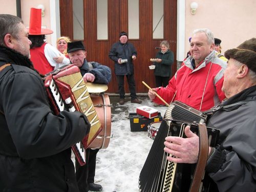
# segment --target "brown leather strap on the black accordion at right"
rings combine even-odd
[[[193,181],[191,183],[190,192],[198,192],[201,180],[204,175],[204,169],[207,162],[208,157],[208,134],[207,134],[207,128],[204,124],[198,124],[198,133],[199,133],[199,142],[200,142],[200,148],[199,148],[199,155],[198,155],[198,162],[195,169]]]

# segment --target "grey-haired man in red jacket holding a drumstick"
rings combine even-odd
[[[197,29],[190,41],[190,53],[169,84],[148,91],[155,103],[181,101],[197,110],[206,111],[219,104],[225,95],[221,91],[226,62],[216,56],[214,34],[209,29]]]

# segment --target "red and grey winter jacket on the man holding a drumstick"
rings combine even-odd
[[[225,98],[221,88],[227,64],[216,57],[215,51],[212,51],[195,69],[191,65],[192,59],[190,56],[184,60],[182,67],[169,80],[168,86],[157,88],[157,94],[167,103],[178,100],[197,110],[206,111]],[[158,97],[153,101],[164,104]]]

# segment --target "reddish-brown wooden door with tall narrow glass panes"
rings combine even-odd
[[[119,40],[121,31],[128,32],[128,1],[129,0],[108,0],[108,39],[97,40],[97,1],[83,0],[83,24],[84,24],[84,45],[87,49],[87,60],[97,61],[112,69],[112,80],[109,84],[109,93],[117,93],[118,86],[114,74],[114,61],[108,54],[114,42]],[[60,29],[61,35],[73,39],[73,16],[72,1],[60,0]],[[164,38],[153,39],[153,1],[139,0],[139,39],[129,39],[137,52],[137,59],[134,61],[135,80],[137,93],[147,93],[148,89],[141,83],[145,81],[150,87],[155,87],[155,76],[150,58],[155,58],[159,51],[162,40],[168,40],[170,50],[174,52],[173,75],[177,70],[176,49],[177,49],[177,1],[164,0]],[[129,35],[129,34],[128,34]],[[77,39],[75,39],[77,40]],[[125,93],[129,93],[125,83]]]

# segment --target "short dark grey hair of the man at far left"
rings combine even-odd
[[[20,23],[23,20],[10,14],[0,14],[0,45],[5,46],[5,35],[10,33],[14,38],[19,38]]]

